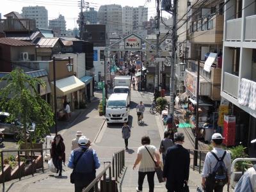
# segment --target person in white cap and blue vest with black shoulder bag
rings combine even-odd
[[[72,150],[68,159],[68,167],[73,169],[75,192],[83,191],[83,188],[96,178],[96,170],[100,167],[99,158],[95,150],[90,148],[91,142],[86,136],[79,138],[78,145],[79,148]],[[90,190],[90,192],[93,191],[93,189]]]

